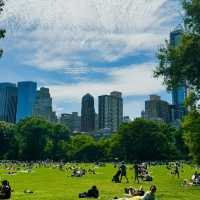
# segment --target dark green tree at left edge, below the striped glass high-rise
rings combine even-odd
[[[16,126],[0,122],[0,159],[16,159],[17,152]]]

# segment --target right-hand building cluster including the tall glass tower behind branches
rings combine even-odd
[[[170,45],[176,47],[182,38],[182,30],[175,30],[170,33]],[[142,117],[150,120],[158,120],[166,123],[172,123],[179,126],[181,119],[187,114],[188,110],[184,105],[188,95],[189,86],[186,81],[180,83],[172,90],[172,105],[161,100],[157,95],[151,95],[150,100],[145,102],[145,111],[142,111]]]

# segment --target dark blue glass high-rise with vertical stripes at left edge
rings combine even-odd
[[[0,83],[0,121],[16,122],[17,87],[12,83]]]

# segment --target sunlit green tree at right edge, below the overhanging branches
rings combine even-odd
[[[200,113],[192,111],[182,123],[184,141],[194,162],[200,164]]]

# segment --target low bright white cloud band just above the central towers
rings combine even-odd
[[[88,92],[97,97],[114,90],[123,92],[124,96],[148,95],[164,89],[161,81],[152,76],[154,66],[153,63],[146,63],[108,70],[112,77],[108,81],[82,81],[76,84],[48,85],[48,87],[57,101],[65,99],[80,102],[81,97]]]

